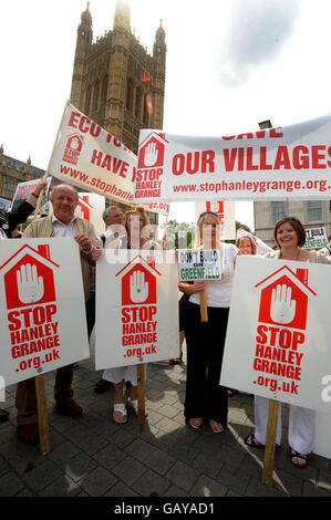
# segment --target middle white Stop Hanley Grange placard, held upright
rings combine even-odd
[[[174,252],[103,251],[96,262],[96,370],[178,356],[177,283]]]

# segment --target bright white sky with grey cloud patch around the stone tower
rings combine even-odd
[[[0,145],[46,169],[70,97],[76,29],[86,0],[0,0]],[[91,0],[93,39],[113,28],[115,0]],[[220,136],[330,113],[329,0],[131,0],[131,27],[153,52],[167,44],[164,131]],[[194,221],[194,205],[170,218]],[[251,202],[236,218],[254,229]]]

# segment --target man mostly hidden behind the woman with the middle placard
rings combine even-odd
[[[121,211],[117,206],[108,206],[103,215],[102,218],[106,226],[106,232],[102,233],[99,238],[102,242],[102,247],[105,248],[107,243],[112,242],[116,237],[122,236],[125,232],[123,227],[123,212]],[[86,316],[87,316],[87,331],[89,331],[89,339],[93,331],[94,323],[95,323],[95,284],[91,288],[91,297],[86,302]],[[101,378],[95,387],[94,392],[96,394],[103,394],[107,389],[112,387],[112,383]]]

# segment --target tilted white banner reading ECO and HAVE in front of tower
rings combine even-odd
[[[66,106],[50,162],[51,175],[86,191],[132,205],[136,165],[136,155],[121,141],[71,104]],[[169,214],[168,204],[147,202],[148,211]]]

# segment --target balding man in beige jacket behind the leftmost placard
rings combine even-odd
[[[51,194],[53,215],[34,220],[24,231],[23,238],[62,238],[73,237],[81,250],[81,268],[85,300],[90,295],[90,275],[92,261],[91,254],[99,245],[93,226],[79,217],[74,211],[79,202],[79,196],[73,186],[55,186]],[[71,417],[82,415],[81,406],[73,399],[72,391],[73,365],[68,365],[56,371],[55,378],[55,406]],[[17,386],[18,433],[27,444],[39,443],[38,414],[34,377],[23,381]]]

